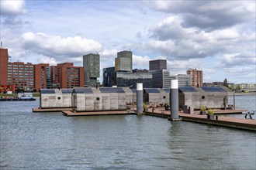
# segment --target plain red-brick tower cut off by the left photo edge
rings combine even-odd
[[[7,85],[8,49],[0,48],[0,85]]]

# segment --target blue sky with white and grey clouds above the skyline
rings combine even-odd
[[[99,53],[101,69],[133,52],[133,69],[167,59],[171,75],[255,83],[255,1],[1,0],[1,41],[11,62],[74,62]]]

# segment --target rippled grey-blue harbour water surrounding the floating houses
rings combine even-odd
[[[237,109],[255,107],[238,107],[238,98]],[[0,103],[1,170],[256,168],[254,131],[150,116],[32,113],[38,106]]]

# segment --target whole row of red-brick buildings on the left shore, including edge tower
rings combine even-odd
[[[8,49],[1,49],[0,52],[2,86],[14,85],[16,89],[39,91],[41,88],[73,88],[85,85],[82,66],[73,66],[73,63],[60,63],[57,66],[49,66],[48,63],[9,63]]]

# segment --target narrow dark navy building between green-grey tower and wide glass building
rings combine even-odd
[[[115,67],[108,67],[103,69],[103,86],[112,87],[116,85],[116,71]]]

